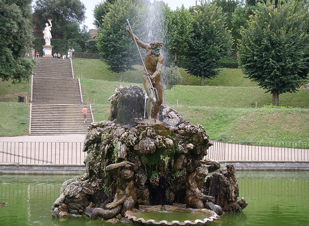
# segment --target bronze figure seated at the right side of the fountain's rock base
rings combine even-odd
[[[202,186],[205,177],[218,169],[220,169],[220,163],[214,160],[206,159],[205,161],[200,161],[202,166],[196,168],[196,172],[191,173],[185,183],[186,188],[186,207],[202,209],[207,208],[215,211],[217,214],[221,215],[223,210],[219,205],[215,205],[215,197],[210,195],[205,195],[202,193]]]

